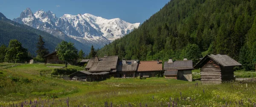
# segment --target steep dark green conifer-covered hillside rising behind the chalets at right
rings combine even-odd
[[[252,70],[256,0],[171,0],[138,29],[98,54],[139,60],[186,57],[194,64],[206,54],[227,54],[242,63],[243,69]]]

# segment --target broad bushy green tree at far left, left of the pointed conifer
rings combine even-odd
[[[10,40],[4,60],[6,62],[20,62],[29,60],[27,49],[23,48],[21,45],[22,44],[16,39]]]

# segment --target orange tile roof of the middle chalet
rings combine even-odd
[[[137,71],[163,71],[162,60],[140,61]]]

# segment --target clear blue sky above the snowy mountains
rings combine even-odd
[[[43,9],[57,17],[64,14],[93,14],[106,19],[120,18],[130,23],[143,23],[169,0],[1,0],[0,12],[8,19],[20,16],[27,7],[32,12]]]

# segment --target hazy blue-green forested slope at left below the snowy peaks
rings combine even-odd
[[[8,46],[11,39],[17,39],[32,55],[36,55],[36,44],[39,35],[43,37],[46,44],[45,47],[48,48],[50,52],[54,51],[55,46],[62,41],[44,31],[13,22],[0,13],[0,45],[5,44]]]

